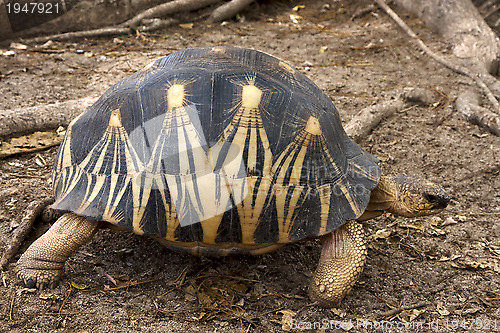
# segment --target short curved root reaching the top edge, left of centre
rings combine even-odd
[[[174,0],[143,11],[128,21],[123,22],[119,27],[135,28],[139,26],[144,19],[154,17],[164,17],[165,15],[175,14],[182,11],[193,11],[210,6],[220,0]]]

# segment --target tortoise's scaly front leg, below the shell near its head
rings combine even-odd
[[[321,241],[323,248],[309,296],[323,306],[338,306],[363,271],[367,253],[365,233],[358,222],[348,221]]]

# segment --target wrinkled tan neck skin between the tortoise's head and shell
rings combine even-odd
[[[396,211],[398,192],[397,184],[390,177],[381,176],[378,186],[371,193],[368,207],[357,220],[362,222],[380,216],[387,211]]]

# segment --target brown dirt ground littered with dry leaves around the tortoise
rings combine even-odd
[[[344,122],[395,89],[433,92],[431,105],[407,104],[361,146],[379,156],[385,174],[442,184],[451,204],[435,217],[367,221],[366,267],[339,308],[309,306],[318,241],[255,257],[193,258],[104,230],[70,258],[52,290],[23,289],[14,272],[18,254],[2,272],[0,331],[279,332],[314,323],[328,332],[498,331],[500,138],[451,107],[470,80],[422,55],[382,12],[350,19],[368,4],[260,2],[226,25],[195,23],[0,56],[0,109],[99,96],[153,59],[205,45],[251,47],[287,60],[331,97]],[[433,50],[448,52],[450,45],[419,20],[404,18]],[[26,206],[51,196],[56,151],[0,160],[0,249]],[[36,224],[21,252],[48,227]]]

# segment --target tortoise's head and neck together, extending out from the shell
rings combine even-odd
[[[371,193],[365,214],[358,220],[383,212],[404,217],[432,215],[446,208],[449,202],[448,194],[438,184],[406,176],[382,176]]]

